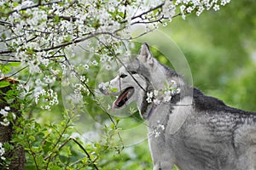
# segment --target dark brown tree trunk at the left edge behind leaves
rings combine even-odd
[[[0,110],[4,110],[6,107],[9,107],[9,112],[12,112],[15,114],[16,118],[18,118],[20,116],[20,111],[19,108],[13,108],[11,107],[10,104],[8,104],[8,102],[6,101],[6,99],[4,99],[4,97],[6,96],[6,93],[9,90],[13,90],[12,86],[14,86],[14,84],[18,83],[18,81],[9,78],[9,77],[2,77],[0,78],[0,82],[9,82],[9,86],[0,88]],[[12,104],[16,104],[17,100],[15,99],[13,101]],[[0,122],[3,122],[4,116],[2,114],[0,114]],[[14,121],[15,122],[15,121]],[[10,122],[8,126],[3,126],[2,124],[0,124],[0,143],[4,144],[4,143],[11,143],[11,139],[12,139],[12,134],[15,133],[15,130],[13,129],[13,122]],[[3,155],[3,157],[6,158],[6,160],[10,160],[10,164],[9,167],[1,167],[0,164],[0,169],[5,170],[5,169],[9,169],[9,170],[25,170],[25,152],[22,146],[17,145],[17,144],[12,144],[14,146],[14,150],[10,150],[10,151],[6,151]],[[0,163],[1,163],[0,159]],[[2,162],[3,163],[3,162]]]

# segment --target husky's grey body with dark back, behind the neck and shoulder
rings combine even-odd
[[[194,89],[193,109],[169,136],[181,169],[256,169],[256,114],[231,108]],[[178,107],[178,106],[177,106]]]

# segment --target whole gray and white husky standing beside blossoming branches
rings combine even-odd
[[[189,87],[154,59],[146,43],[108,85],[116,90],[100,90],[119,95],[114,108],[136,101],[148,122],[154,170],[171,170],[174,165],[181,170],[256,169],[256,113],[231,108]]]

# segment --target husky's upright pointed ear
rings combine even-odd
[[[142,48],[140,50],[140,53],[137,56],[137,59],[142,61],[143,63],[148,63],[149,65],[153,65],[154,59],[150,52],[150,49],[148,47],[148,43],[144,42],[142,45]]]

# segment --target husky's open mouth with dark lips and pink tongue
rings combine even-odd
[[[119,95],[118,99],[113,102],[113,108],[120,108],[125,105],[126,101],[131,98],[132,94],[134,94],[134,88],[125,88],[125,90]]]

